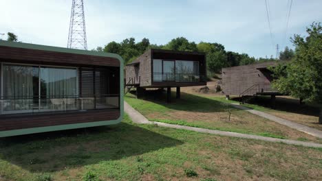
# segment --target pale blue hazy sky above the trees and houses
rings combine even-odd
[[[321,0],[294,0],[288,28],[288,1],[267,0],[84,0],[87,47],[103,47],[125,38],[149,38],[166,44],[184,36],[190,41],[221,43],[226,51],[275,57],[292,47],[290,37],[322,22]],[[72,0],[0,0],[0,34],[13,32],[23,43],[67,47]],[[0,38],[6,39],[6,36]]]

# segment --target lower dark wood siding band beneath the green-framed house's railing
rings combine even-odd
[[[63,112],[10,117],[1,117],[0,131],[37,128],[51,125],[66,125],[74,123],[91,123],[96,121],[115,120],[120,117],[120,110],[89,110],[87,112]]]

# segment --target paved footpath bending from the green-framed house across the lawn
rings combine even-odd
[[[152,122],[152,121],[149,121],[142,114],[140,114],[140,112],[138,112],[137,110],[132,108],[129,104],[127,104],[126,101],[124,101],[124,110],[129,115],[129,117],[131,117],[131,119],[134,123],[155,124],[155,125],[167,127],[167,128],[190,130],[190,131],[194,131],[194,132],[204,132],[204,133],[208,133],[208,134],[217,134],[220,136],[230,136],[230,137],[235,137],[235,138],[248,138],[248,139],[255,139],[255,140],[260,140],[260,141],[269,141],[269,142],[274,142],[274,143],[286,143],[289,145],[301,145],[304,147],[322,147],[322,144],[318,144],[318,143],[294,141],[294,140],[279,139],[279,138],[270,138],[270,137],[266,137],[266,136],[242,134],[242,133],[237,133],[237,132],[224,132],[224,131],[219,131],[219,130],[209,130],[209,129],[204,129],[204,128],[195,128],[195,127],[186,126],[186,125],[175,125],[175,124],[168,124],[168,123]]]

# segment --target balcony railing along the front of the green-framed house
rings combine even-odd
[[[0,114],[118,109],[120,95],[1,97],[0,106]]]

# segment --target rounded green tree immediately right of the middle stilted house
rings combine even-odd
[[[207,67],[211,73],[218,73],[224,67],[228,67],[227,56],[222,51],[216,51],[214,53],[209,53],[206,56]]]

